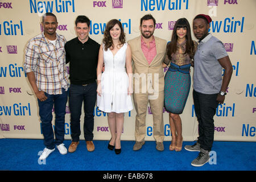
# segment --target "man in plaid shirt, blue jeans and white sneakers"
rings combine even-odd
[[[56,33],[57,18],[52,13],[43,15],[42,34],[32,38],[26,47],[24,69],[28,81],[38,98],[39,115],[42,121],[44,151],[40,160],[55,150],[67,154],[64,147],[65,107],[68,99],[68,73],[65,68],[64,36]],[[52,129],[52,107],[55,110],[55,137]]]

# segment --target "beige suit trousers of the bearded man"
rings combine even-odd
[[[137,112],[135,120],[135,139],[137,142],[144,141],[146,136],[146,114],[148,101],[150,102],[151,111],[153,114],[153,137],[156,142],[163,142],[164,139],[164,124],[163,124],[163,106],[164,106],[164,91],[158,93],[158,98],[151,99],[147,93],[133,94],[134,106]]]

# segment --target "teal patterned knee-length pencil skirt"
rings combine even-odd
[[[181,114],[187,102],[191,76],[191,64],[176,65],[171,63],[164,77],[164,107],[174,114]]]

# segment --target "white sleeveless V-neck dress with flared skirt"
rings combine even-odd
[[[102,94],[97,94],[98,109],[105,113],[126,113],[133,110],[131,96],[127,94],[129,78],[126,73],[126,49],[125,43],[118,51],[113,53],[103,46],[105,71],[101,75]]]

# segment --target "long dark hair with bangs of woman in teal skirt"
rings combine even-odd
[[[172,32],[171,42],[167,45],[167,56],[171,60],[171,55],[177,51],[177,28],[187,28],[186,38],[186,50],[184,54],[188,54],[189,57],[193,57],[195,54],[195,46],[191,37],[191,28],[189,26],[188,20],[185,18],[180,18],[176,21],[174,26],[174,31]]]

